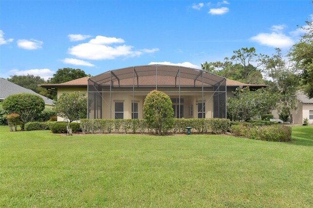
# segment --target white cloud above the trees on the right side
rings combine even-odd
[[[261,45],[270,47],[288,48],[294,44],[294,41],[283,33],[259,33],[250,38],[251,41],[258,42]]]

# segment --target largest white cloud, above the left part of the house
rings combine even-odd
[[[154,53],[158,48],[133,50],[132,45],[114,45],[112,43],[125,42],[120,38],[109,38],[105,36],[97,36],[87,43],[78,44],[68,48],[68,53],[81,59],[89,60],[105,60],[115,59],[116,57],[136,57],[144,53]]]

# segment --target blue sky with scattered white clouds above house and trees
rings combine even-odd
[[[310,0],[1,0],[0,77],[45,80],[146,64],[200,68],[242,47],[287,53],[313,19]]]

